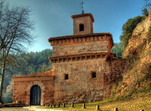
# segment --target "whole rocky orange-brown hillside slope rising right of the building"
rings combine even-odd
[[[132,96],[139,92],[151,92],[151,11],[132,33],[123,58],[131,60],[130,68],[122,81],[113,86],[117,96]]]

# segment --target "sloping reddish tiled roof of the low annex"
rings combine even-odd
[[[46,71],[46,72],[38,72],[35,74],[27,74],[27,75],[22,75],[22,76],[16,76],[14,78],[30,78],[30,77],[51,77],[54,76],[54,71]]]

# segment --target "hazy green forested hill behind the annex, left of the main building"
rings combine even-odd
[[[4,81],[4,102],[12,102],[12,93],[9,89],[11,78],[14,76],[26,75],[31,73],[51,70],[51,63],[48,60],[52,51],[45,49],[41,52],[30,52],[15,55],[18,58],[14,65],[7,68]]]

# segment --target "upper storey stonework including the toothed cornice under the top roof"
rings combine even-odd
[[[63,56],[94,52],[107,52],[113,45],[110,33],[98,33],[85,36],[76,36],[70,38],[62,37],[61,40],[51,38],[50,42],[53,46],[52,56]]]

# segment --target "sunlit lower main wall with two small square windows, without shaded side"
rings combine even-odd
[[[105,58],[54,63],[55,67],[55,103],[92,102],[103,99],[103,75],[109,73]],[[96,78],[92,78],[96,72]],[[65,74],[69,79],[65,80]]]

